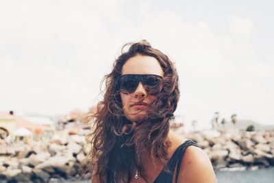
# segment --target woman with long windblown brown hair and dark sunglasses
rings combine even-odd
[[[177,108],[175,66],[149,42],[127,44],[105,75],[88,136],[92,182],[216,182],[206,153],[169,130]]]

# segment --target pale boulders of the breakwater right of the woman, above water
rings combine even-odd
[[[187,138],[204,149],[214,169],[253,169],[274,166],[274,132],[190,133]]]

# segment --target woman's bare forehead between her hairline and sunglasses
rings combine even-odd
[[[157,59],[141,55],[129,58],[125,62],[121,75],[125,74],[154,74],[164,77],[164,71]]]

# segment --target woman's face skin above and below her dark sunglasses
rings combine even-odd
[[[158,60],[151,56],[137,55],[129,58],[123,65],[121,75],[126,74],[150,74],[164,77],[164,72]],[[123,112],[129,121],[140,121],[145,117],[147,105],[155,100],[155,96],[149,95],[142,82],[138,83],[132,93],[121,93]]]

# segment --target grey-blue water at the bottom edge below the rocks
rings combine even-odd
[[[274,183],[274,167],[253,171],[216,171],[216,177],[219,183]],[[90,180],[79,180],[76,183],[90,183]]]

